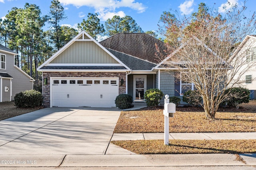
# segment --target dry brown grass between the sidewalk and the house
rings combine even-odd
[[[240,109],[222,108],[215,120],[206,119],[200,108],[177,108],[170,118],[170,133],[256,132],[256,101]],[[164,133],[162,109],[122,111],[114,133]]]

